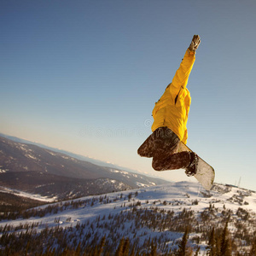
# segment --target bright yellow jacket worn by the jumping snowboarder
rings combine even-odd
[[[151,127],[152,131],[155,131],[159,127],[167,126],[185,144],[188,139],[187,121],[191,102],[190,93],[186,86],[194,62],[195,52],[188,49],[172,79],[172,83],[166,87],[163,96],[155,103],[153,109],[154,123]]]

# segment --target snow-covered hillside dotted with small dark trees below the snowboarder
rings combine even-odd
[[[226,238],[222,236],[225,224],[229,230]],[[189,230],[190,251],[207,255],[214,227],[214,247],[218,248],[222,237],[233,253],[247,255],[256,236],[256,193],[219,184],[207,192],[198,183],[172,183],[5,215],[0,227],[3,250],[29,239],[32,253],[46,248],[61,253],[65,248],[86,251],[94,247],[101,252],[108,248],[110,255],[124,242],[122,237],[129,243],[130,253],[173,253],[185,230]]]

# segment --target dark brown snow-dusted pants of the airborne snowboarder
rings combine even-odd
[[[155,171],[184,169],[190,164],[190,153],[177,153],[179,143],[179,138],[172,130],[160,127],[138,148],[137,153],[143,157],[153,157],[152,167]]]

